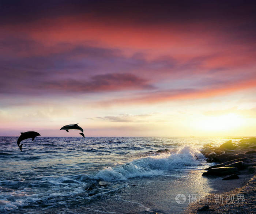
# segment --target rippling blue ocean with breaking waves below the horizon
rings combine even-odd
[[[20,152],[17,139],[0,137],[1,213],[184,213],[177,194],[211,191],[202,145],[240,140],[36,137]]]

